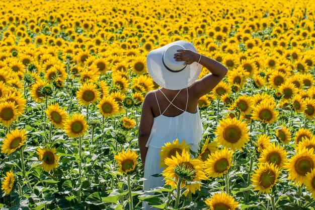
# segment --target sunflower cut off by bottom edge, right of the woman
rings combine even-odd
[[[211,210],[235,210],[239,207],[239,202],[225,192],[215,193],[210,199],[206,199],[205,203]]]

